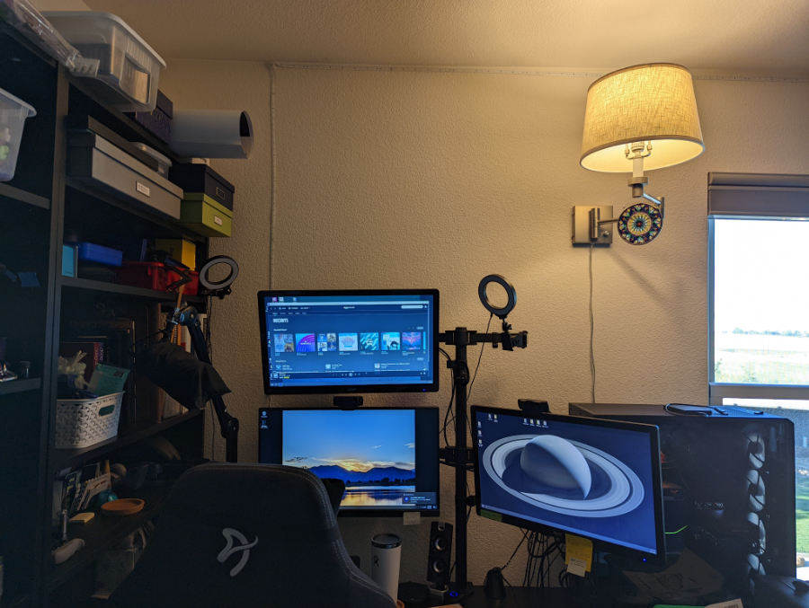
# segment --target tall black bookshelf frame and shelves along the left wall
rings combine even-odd
[[[121,137],[151,145],[176,161],[176,155],[156,137],[94,98],[82,79],[71,76],[2,21],[0,65],[0,88],[37,111],[25,121],[13,180],[0,183],[0,262],[15,273],[35,272],[40,283],[39,287],[22,288],[0,281],[0,336],[6,338],[5,358],[13,369],[21,360],[31,362],[31,378],[0,383],[0,445],[13,454],[14,462],[0,470],[0,481],[8,489],[4,497],[7,513],[0,522],[4,558],[0,608],[47,608],[65,597],[79,598],[76,605],[84,605],[90,604],[82,581],[90,572],[87,567],[102,551],[156,516],[169,487],[138,490],[134,495],[144,498],[147,505],[136,515],[97,515],[81,530],[71,526],[71,536],[84,538],[86,546],[57,567],[51,555],[56,474],[101,458],[120,462],[114,459],[144,453],[148,439],[156,435],[172,441],[183,457],[199,459],[205,418],[200,410],[191,410],[161,422],[138,421],[120,427],[118,436],[99,444],[56,449],[58,347],[62,337],[69,337],[70,323],[98,318],[93,315],[104,306],[110,310],[120,303],[146,304],[165,311],[177,300],[172,292],[63,277],[62,243],[74,234],[98,244],[185,238],[196,244],[201,261],[207,258],[208,239],[171,217],[134,207],[67,176],[64,124],[68,114],[89,115]],[[182,300],[205,312],[205,297],[185,295]],[[78,313],[83,316],[76,317]],[[136,406],[141,399],[136,391]],[[136,411],[141,409],[136,407]],[[84,575],[76,577],[80,572]]]

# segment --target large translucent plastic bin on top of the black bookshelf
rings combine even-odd
[[[103,101],[124,112],[155,110],[165,62],[120,17],[93,11],[42,14],[82,57],[99,60],[98,74],[86,82]]]

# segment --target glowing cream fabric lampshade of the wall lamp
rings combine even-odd
[[[705,150],[691,73],[674,64],[625,67],[587,92],[582,159],[585,169],[632,172],[625,148],[651,142],[644,169],[685,163]]]

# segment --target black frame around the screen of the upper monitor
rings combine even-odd
[[[299,297],[299,296],[351,296],[351,295],[431,295],[432,308],[432,383],[429,384],[341,384],[324,386],[271,386],[270,358],[267,348],[267,315],[264,311],[266,297]],[[316,395],[316,394],[375,394],[380,392],[438,392],[439,390],[439,290],[438,289],[268,289],[258,292],[259,327],[262,339],[262,378],[264,394],[267,395]]]

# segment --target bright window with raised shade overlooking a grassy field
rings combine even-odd
[[[795,424],[797,573],[809,579],[809,176],[708,183],[710,403]]]

